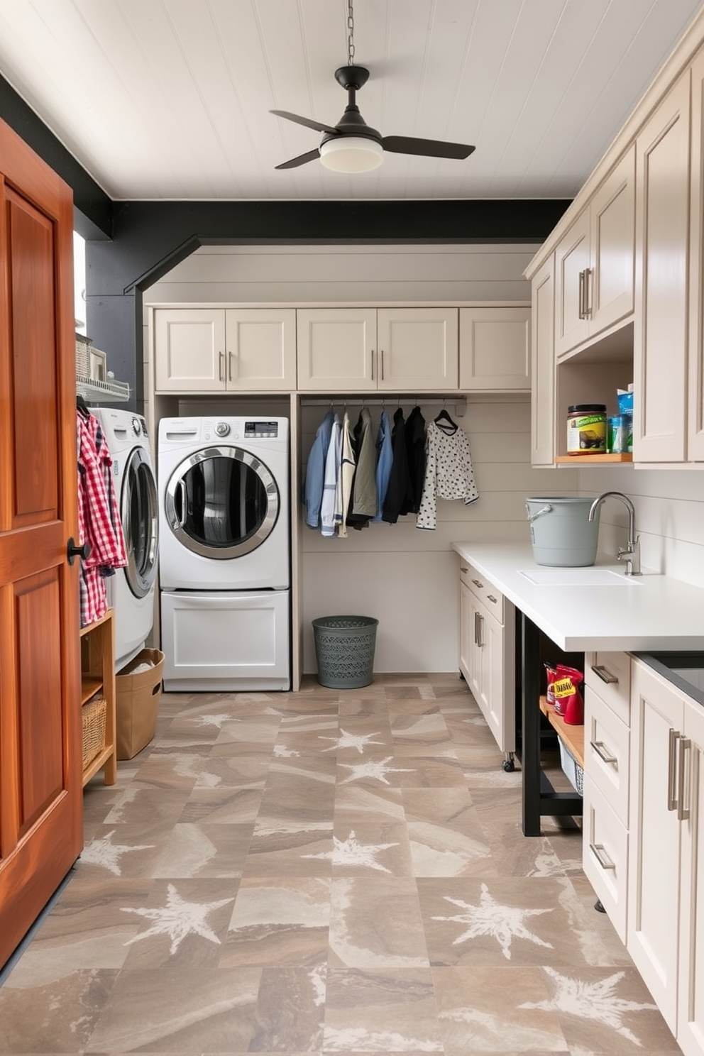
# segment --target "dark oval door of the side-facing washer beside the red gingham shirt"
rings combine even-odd
[[[120,496],[125,533],[127,582],[135,598],[144,598],[154,583],[158,558],[158,508],[154,473],[142,448],[130,453]]]

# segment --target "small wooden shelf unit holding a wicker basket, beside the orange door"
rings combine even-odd
[[[115,630],[113,610],[101,619],[81,627],[80,631],[80,704],[96,693],[106,699],[104,747],[83,770],[83,787],[98,770],[104,770],[106,785],[117,780],[117,746],[115,742]]]

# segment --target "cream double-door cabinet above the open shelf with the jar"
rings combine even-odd
[[[634,150],[606,176],[555,250],[555,353],[564,356],[633,312]]]

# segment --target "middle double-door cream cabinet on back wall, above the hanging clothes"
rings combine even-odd
[[[302,392],[457,389],[457,308],[299,308]]]

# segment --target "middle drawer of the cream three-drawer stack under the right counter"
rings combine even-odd
[[[593,689],[585,691],[585,772],[628,826],[630,730]]]

